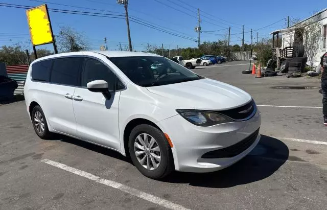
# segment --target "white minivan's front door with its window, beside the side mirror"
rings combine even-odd
[[[110,100],[106,100],[101,92],[86,88],[88,82],[95,80],[105,80],[109,90],[115,90],[118,78],[101,59],[85,57],[81,85],[76,87],[73,98],[77,136],[120,151],[118,108],[121,93],[112,91]]]

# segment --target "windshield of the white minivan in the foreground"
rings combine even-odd
[[[202,79],[164,57],[113,57],[108,58],[135,84],[143,87],[168,85]]]

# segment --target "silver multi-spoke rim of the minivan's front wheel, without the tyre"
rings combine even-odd
[[[147,133],[139,134],[134,141],[134,152],[138,162],[148,170],[155,170],[161,161],[157,141]]]

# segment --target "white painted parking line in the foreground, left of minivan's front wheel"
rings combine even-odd
[[[111,186],[111,188],[123,191],[125,193],[129,193],[129,194],[131,194],[133,196],[136,196],[138,198],[142,198],[144,200],[155,203],[155,204],[160,205],[162,207],[166,207],[166,208],[169,208],[169,209],[178,209],[178,210],[179,209],[187,209],[187,208],[185,208],[185,207],[183,207],[181,205],[172,203],[172,202],[170,202],[168,200],[165,200],[165,199],[156,197],[154,195],[151,195],[151,194],[136,190],[134,188],[131,188],[131,187],[125,185],[125,184],[115,182],[115,181],[111,181],[111,180],[108,180],[108,179],[103,179],[103,178],[101,178],[99,176],[90,174],[88,172],[81,171],[81,170],[69,167],[67,165],[64,165],[64,164],[60,164],[60,162],[56,162],[56,161],[49,160],[49,159],[43,159],[43,160],[41,160],[41,162],[45,162],[46,164],[49,164],[51,166],[57,167],[59,169],[62,169],[62,170],[68,171],[68,172],[71,172],[73,174],[77,174],[79,176],[82,176],[82,177],[85,177],[87,179],[96,181],[98,183],[105,184],[107,186]]]

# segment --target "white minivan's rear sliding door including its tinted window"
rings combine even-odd
[[[64,134],[76,135],[73,95],[78,83],[83,57],[53,59],[49,83],[39,83],[41,106],[51,127]]]

